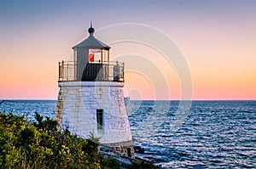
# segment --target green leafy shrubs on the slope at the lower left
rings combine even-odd
[[[97,153],[99,142],[93,140],[98,138],[84,140],[68,130],[58,132],[56,121],[38,113],[35,119],[29,123],[24,116],[0,113],[2,168],[119,168],[113,158]]]

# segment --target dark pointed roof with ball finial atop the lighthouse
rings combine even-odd
[[[73,48],[104,48],[109,49],[110,47],[106,45],[105,43],[101,42],[100,40],[96,39],[93,36],[94,28],[90,25],[90,28],[88,29],[88,32],[90,33],[90,36],[87,37],[84,41],[79,42],[79,44],[75,45]]]

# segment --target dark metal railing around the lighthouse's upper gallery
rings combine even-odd
[[[92,62],[79,64],[73,61],[59,62],[59,82],[107,81],[124,82],[125,63]]]

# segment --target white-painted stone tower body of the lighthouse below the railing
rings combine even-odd
[[[63,110],[59,112],[61,127],[68,127],[70,132],[82,138],[88,138],[92,132],[96,137],[101,138],[102,144],[131,141],[130,124],[121,84],[121,82],[60,82],[59,85],[66,86],[61,87],[59,93],[59,99],[63,104]],[[113,87],[114,85],[118,87]],[[97,128],[96,110],[98,109],[103,110],[102,130]]]

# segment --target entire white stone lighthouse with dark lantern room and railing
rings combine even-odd
[[[134,157],[125,109],[124,63],[109,60],[110,47],[94,37],[73,47],[73,60],[59,63],[60,87],[55,119],[79,137],[90,133],[113,152]]]

